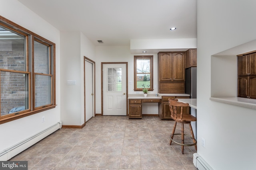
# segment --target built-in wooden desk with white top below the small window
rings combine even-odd
[[[143,94],[129,94],[129,119],[141,119],[142,118],[142,103],[160,103],[162,98],[153,94],[148,94],[144,97]]]

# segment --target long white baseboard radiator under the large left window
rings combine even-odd
[[[56,130],[61,129],[61,128],[62,128],[62,122],[60,121],[60,122],[48,127],[47,129],[44,129],[43,131],[33,135],[32,137],[25,139],[24,141],[22,141],[20,143],[17,143],[16,145],[14,145],[10,148],[0,151],[0,161],[9,160],[10,158],[16,156],[23,150],[28,149],[35,143],[41,141],[48,135],[52,134],[53,132],[55,132]]]

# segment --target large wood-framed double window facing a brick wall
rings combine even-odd
[[[0,16],[0,124],[55,107],[54,49]]]

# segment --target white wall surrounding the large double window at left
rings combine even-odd
[[[0,0],[1,16],[56,44],[56,108],[0,125],[0,151],[60,121],[60,32],[17,0]],[[39,26],[40,25],[40,26]],[[48,31],[45,31],[48,30]],[[42,116],[45,122],[42,123]]]

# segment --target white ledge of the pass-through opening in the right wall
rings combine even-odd
[[[256,99],[248,99],[248,98],[237,98],[237,97],[222,97],[222,98],[213,98],[211,97],[210,100],[232,104],[235,106],[247,107],[250,109],[256,109]]]

